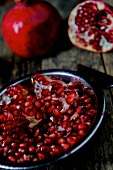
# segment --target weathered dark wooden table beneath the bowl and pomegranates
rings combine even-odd
[[[72,7],[80,1],[49,0],[49,2],[53,3],[65,20]],[[106,0],[106,2],[113,5],[112,0]],[[10,3],[0,7],[0,22],[5,12],[12,5],[13,3]],[[61,41],[62,43],[57,46],[54,52],[47,56],[35,59],[22,59],[6,46],[0,34],[0,87],[19,76],[37,72],[38,70],[77,70],[76,66],[79,63],[113,76],[113,52],[92,53],[78,49],[69,42],[65,31]],[[93,142],[91,147],[93,149],[91,149],[89,155],[83,160],[79,159],[79,161],[76,161],[75,157],[73,160],[63,162],[61,165],[48,166],[48,170],[113,170],[113,93],[112,90],[104,89],[104,94],[106,97],[105,119],[101,126],[101,133]]]

